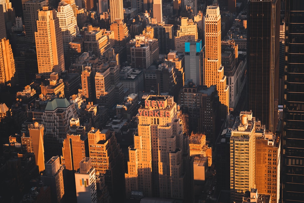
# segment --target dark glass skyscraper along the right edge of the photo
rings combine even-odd
[[[303,6],[302,1],[286,0],[282,203],[300,202],[304,198]]]

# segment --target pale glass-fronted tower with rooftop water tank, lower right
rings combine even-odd
[[[255,184],[255,117],[241,111],[230,137],[230,201],[242,203]]]

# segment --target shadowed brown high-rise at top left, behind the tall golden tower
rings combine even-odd
[[[24,30],[26,32],[26,40],[35,43],[35,32],[37,32],[38,11],[43,6],[47,6],[47,0],[30,0],[22,1]]]

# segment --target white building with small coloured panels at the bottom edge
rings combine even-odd
[[[75,173],[77,202],[97,203],[96,175],[91,158],[84,157],[78,167],[79,170]]]

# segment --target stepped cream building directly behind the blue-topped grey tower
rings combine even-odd
[[[185,52],[185,42],[198,39],[197,24],[192,19],[181,18],[181,24],[178,26],[174,36],[174,48],[178,52]]]

